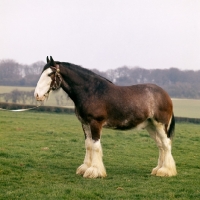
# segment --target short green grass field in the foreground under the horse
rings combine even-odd
[[[84,137],[74,115],[0,112],[0,199],[199,199],[199,125],[177,124],[176,177],[155,177],[158,150],[145,131],[103,130],[108,176],[84,179]]]

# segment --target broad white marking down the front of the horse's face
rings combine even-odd
[[[40,76],[40,79],[37,83],[37,86],[35,88],[34,96],[37,101],[44,101],[45,100],[45,94],[50,88],[51,84],[51,77],[48,75],[52,72],[52,69],[48,68],[44,70],[42,75]]]

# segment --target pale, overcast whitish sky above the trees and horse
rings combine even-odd
[[[200,70],[200,0],[0,0],[0,60]]]

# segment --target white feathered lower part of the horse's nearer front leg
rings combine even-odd
[[[91,167],[86,170],[83,177],[97,178],[97,177],[106,176],[106,170],[103,165],[102,156],[103,156],[103,153],[102,153],[100,140],[93,141]]]

